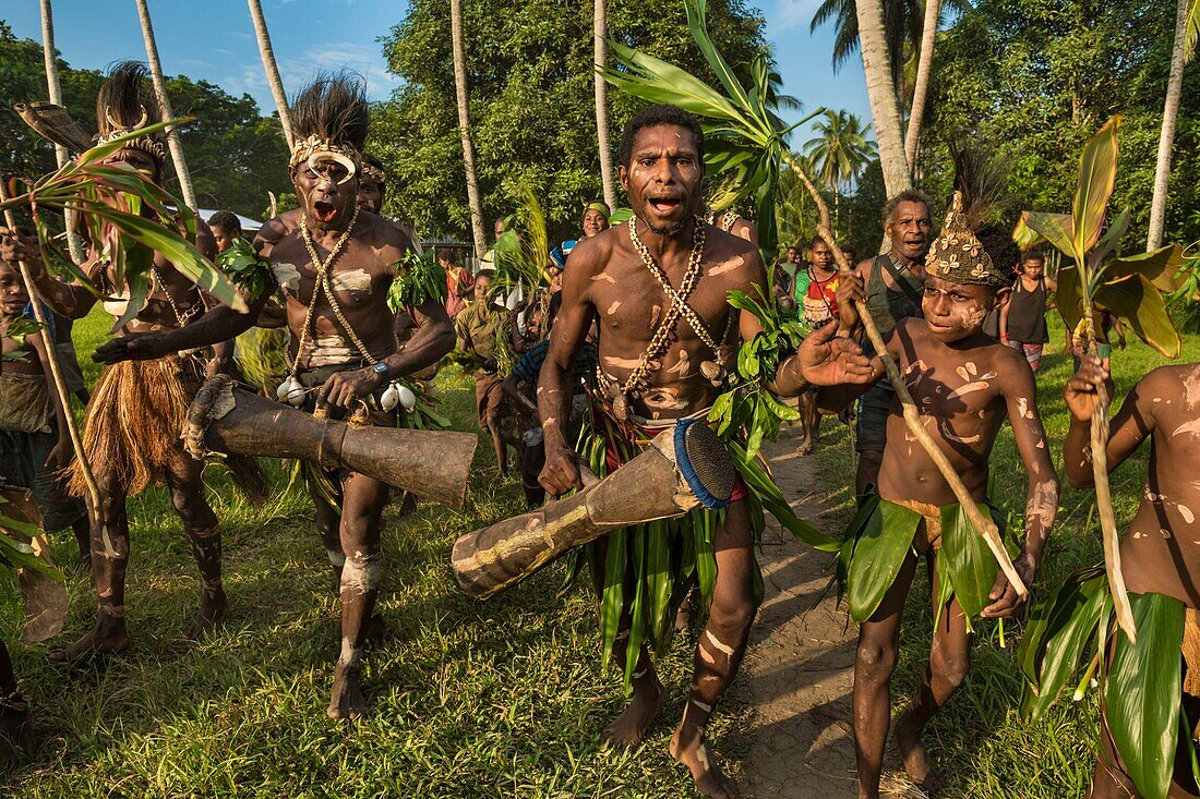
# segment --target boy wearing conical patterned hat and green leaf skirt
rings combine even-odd
[[[992,444],[1004,419],[1010,421],[1028,474],[1025,539],[1015,560],[1028,585],[1054,523],[1058,480],[1028,364],[980,330],[997,299],[1010,290],[1010,281],[967,226],[959,193],[926,257],[925,271],[924,318],[901,320],[887,337],[887,349],[925,428],[980,505],[988,501]],[[860,302],[862,281],[847,280],[856,282],[851,295]],[[844,306],[842,329],[848,332],[856,324],[857,313]],[[822,383],[821,367],[833,360],[826,336],[810,337],[802,347],[803,373],[812,384]],[[883,378],[882,361],[875,358],[872,366],[871,380]],[[864,385],[826,386],[818,403],[830,411],[865,390]],[[880,795],[892,710],[888,683],[896,665],[905,597],[920,558],[934,585],[934,639],[917,695],[896,723],[896,745],[908,776],[926,789],[936,792],[938,781],[920,733],[966,674],[973,623],[980,617],[1013,615],[1021,605],[941,471],[910,433],[899,398],[888,417],[887,441],[878,486],[847,530],[838,569],[850,613],[860,625],[853,726],[859,797],[864,798]]]

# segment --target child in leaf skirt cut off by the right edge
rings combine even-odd
[[[1108,359],[1085,355],[1064,396],[1070,427],[1063,470],[1076,488],[1093,487],[1091,422],[1098,389],[1112,396]],[[1138,382],[1109,427],[1109,471],[1150,439],[1142,499],[1121,542],[1121,573],[1138,627],[1136,642],[1109,630],[1108,579],[1103,569],[1076,572],[1027,629],[1021,663],[1030,680],[1022,709],[1039,713],[1055,701],[1087,642],[1106,636],[1099,674],[1100,743],[1091,799],[1200,795],[1195,773],[1200,728],[1200,364],[1163,366]],[[1104,619],[1105,629],[1097,631]],[[1115,626],[1115,625],[1114,625]],[[1067,627],[1074,635],[1064,635]],[[1072,651],[1070,641],[1079,642]],[[1180,656],[1182,650],[1183,656]],[[1067,669],[1054,669],[1057,661]],[[1061,677],[1060,677],[1061,674]],[[1074,685],[1074,680],[1070,683]],[[1036,697],[1036,698],[1034,698]],[[1152,699],[1153,697],[1153,699]],[[1148,702],[1160,711],[1147,715]]]

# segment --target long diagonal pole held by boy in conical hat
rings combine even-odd
[[[833,252],[834,260],[838,263],[838,271],[842,276],[851,275],[852,269],[850,262],[846,260],[846,256],[841,252],[841,247],[838,246],[838,241],[834,239],[833,233],[829,228],[829,206],[824,204],[821,193],[817,191],[812,181],[804,173],[798,163],[786,152],[784,160],[787,166],[792,168],[796,176],[800,179],[804,187],[809,190],[809,194],[817,205],[817,210],[821,214],[821,221],[817,223],[817,233],[824,239],[826,244],[829,245],[829,250]],[[1013,565],[1012,558],[1008,557],[1008,551],[1004,549],[1004,541],[1000,537],[1000,529],[996,523],[990,518],[984,517],[979,512],[979,506],[967,487],[962,485],[962,479],[959,476],[954,467],[950,465],[949,459],[946,453],[942,452],[941,447],[937,446],[937,441],[929,434],[925,426],[920,422],[920,414],[917,411],[917,403],[913,402],[912,395],[908,394],[908,386],[904,384],[900,378],[900,370],[896,367],[895,361],[892,355],[888,354],[887,346],[883,343],[883,337],[880,335],[880,329],[875,325],[875,319],[871,318],[870,311],[865,305],[858,302],[854,304],[858,310],[858,316],[863,320],[863,328],[866,330],[866,337],[870,338],[871,344],[875,347],[876,354],[880,360],[883,361],[883,368],[888,373],[888,380],[892,383],[892,388],[895,390],[896,396],[900,397],[900,404],[904,408],[904,420],[908,425],[908,431],[920,444],[922,449],[929,455],[930,459],[937,467],[937,470],[942,473],[942,477],[946,480],[950,491],[954,492],[955,498],[959,500],[962,510],[966,511],[967,518],[971,524],[976,528],[979,535],[983,536],[984,541],[988,542],[988,548],[996,557],[996,563],[1000,564],[1001,570],[1008,578],[1009,584],[1018,593],[1019,596],[1025,597],[1028,595],[1028,588],[1021,579],[1021,576],[1016,573],[1016,567]]]

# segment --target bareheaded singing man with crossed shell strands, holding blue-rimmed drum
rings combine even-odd
[[[635,218],[581,241],[571,254],[564,271],[562,310],[538,388],[546,446],[540,481],[552,495],[582,485],[566,420],[572,366],[593,320],[600,325],[600,389],[593,396],[593,423],[601,439],[600,451],[607,450],[599,465],[608,469],[636,455],[676,420],[703,416],[724,390],[721,377],[731,367],[736,342],[761,330],[756,317],[736,311],[727,300],[731,290],[751,296],[766,290],[766,270],[757,250],[696,216],[703,152],[704,137],[695,118],[671,106],[642,110],[622,134],[618,172]],[[856,368],[865,379],[869,366],[860,356],[859,361]],[[601,603],[620,617],[619,631],[605,631],[605,648],[611,648],[614,662],[626,669],[634,692],[629,707],[604,733],[606,740],[622,746],[638,745],[662,708],[664,689],[644,643],[661,648],[668,639],[682,599],[670,596],[668,588],[670,599],[647,602],[656,606],[653,618],[631,615],[637,607],[630,601],[632,587],[625,590],[624,601],[619,590],[620,570],[629,557],[622,549],[628,541],[635,547],[660,547],[660,553],[670,548],[680,558],[691,552],[697,569],[707,575],[712,575],[715,560],[715,587],[709,583],[706,590],[712,603],[696,648],[695,677],[671,740],[671,755],[690,769],[697,789],[707,797],[733,795],[733,786],[704,740],[704,729],[742,662],[761,596],[752,551],[754,530],[760,524],[750,510],[761,510],[761,505],[748,497],[744,485],[734,498],[724,517],[698,512],[682,525],[656,528],[658,537],[650,525],[618,530],[598,542],[593,559],[598,565],[607,561],[611,569],[607,579],[600,575]],[[671,559],[664,557],[664,561]],[[677,589],[688,587],[685,575],[668,573],[666,578],[674,581]]]

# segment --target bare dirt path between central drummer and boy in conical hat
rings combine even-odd
[[[785,429],[763,451],[797,515],[835,534],[846,512],[830,507],[845,499],[845,489],[823,486],[816,457],[796,455],[798,432],[798,426]],[[740,783],[758,799],[854,797],[854,631],[832,595],[812,607],[829,579],[829,555],[768,519],[761,554],[766,596],[738,675],[739,695],[752,708]]]

